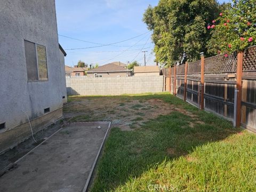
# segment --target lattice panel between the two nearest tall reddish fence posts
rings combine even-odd
[[[228,55],[216,55],[214,57],[206,58],[204,63],[204,73],[234,73],[237,66],[237,54]]]

